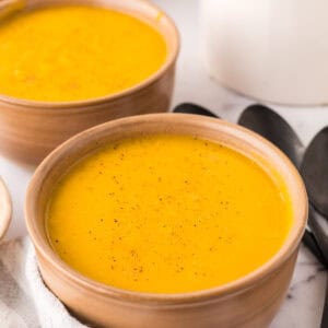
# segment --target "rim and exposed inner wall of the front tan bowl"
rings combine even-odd
[[[45,211],[54,186],[61,176],[81,157],[102,145],[120,139],[144,133],[189,134],[209,141],[226,144],[262,163],[269,163],[284,179],[291,196],[293,225],[280,251],[256,271],[222,286],[185,294],[147,294],[121,291],[92,281],[70,269],[51,249],[45,230]],[[180,298],[188,296],[208,296],[212,293],[225,293],[246,288],[256,280],[269,274],[286,260],[297,247],[306,224],[307,199],[302,179],[291,162],[271,143],[258,134],[214,118],[185,114],[153,114],[128,117],[89,129],[55,150],[38,167],[28,188],[26,198],[26,221],[32,239],[47,260],[59,270],[81,283],[102,288],[104,292],[117,292],[127,295],[139,294],[142,297]]]

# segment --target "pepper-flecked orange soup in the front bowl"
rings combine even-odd
[[[292,224],[281,177],[227,147],[154,134],[81,160],[52,191],[47,230],[81,273],[133,291],[178,293],[268,261]]]

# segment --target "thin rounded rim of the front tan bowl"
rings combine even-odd
[[[258,267],[256,270],[239,279],[233,280],[219,286],[184,293],[137,292],[115,288],[97,282],[83,276],[82,273],[79,273],[59,258],[56,251],[51,249],[49,241],[46,241],[46,237],[42,236],[35,224],[35,218],[37,216],[35,204],[37,202],[38,192],[42,189],[40,187],[43,179],[47,176],[47,173],[50,172],[51,167],[54,167],[56,163],[58,163],[58,160],[60,160],[65,154],[67,155],[68,151],[79,141],[86,139],[91,134],[98,136],[98,133],[108,131],[114,127],[122,128],[122,126],[128,127],[129,125],[131,127],[136,124],[144,122],[145,120],[152,122],[165,121],[165,124],[174,121],[181,125],[195,124],[197,121],[197,124],[199,124],[200,126],[220,126],[223,129],[221,130],[221,132],[231,132],[234,134],[234,137],[237,136],[236,138],[245,137],[248,138],[248,141],[250,142],[255,142],[258,145],[266,147],[270,151],[270,153],[281,162],[281,166],[284,166],[293,178],[293,181],[291,184],[294,185],[294,189],[297,191],[295,192],[297,194],[297,197],[295,197],[294,199],[296,199],[301,206],[294,208],[293,225],[290,229],[289,235],[286,236],[283,245],[279,249],[279,251],[274,254],[273,257],[271,257],[267,262]],[[57,273],[62,274],[66,279],[73,282],[75,285],[85,288],[99,295],[114,297],[124,302],[139,302],[141,304],[155,303],[162,305],[187,304],[200,301],[209,301],[218,296],[229,296],[233,293],[239,293],[244,290],[247,290],[259,281],[266,279],[270,274],[274,273],[274,271],[277,271],[293,255],[293,253],[296,251],[306,226],[307,211],[308,202],[306,189],[297,169],[291,163],[291,161],[271,142],[244,127],[224,121],[222,119],[201,117],[199,115],[173,113],[148,114],[120,118],[98,125],[72,137],[68,141],[59,145],[55,151],[52,151],[37,167],[28,185],[25,198],[25,222],[30,237],[32,238],[37,253],[48,263],[51,265],[52,269],[55,268]]]

